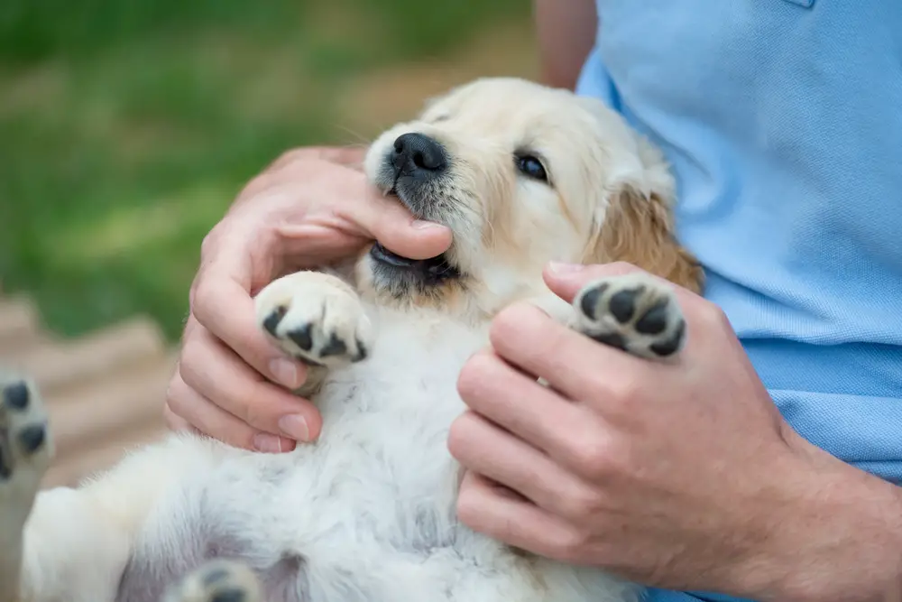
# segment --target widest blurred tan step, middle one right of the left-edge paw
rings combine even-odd
[[[78,387],[46,394],[56,457],[103,447],[116,433],[141,426],[162,427],[162,408],[174,367],[175,357],[161,355],[124,370],[111,370]]]

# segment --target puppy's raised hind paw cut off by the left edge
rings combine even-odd
[[[52,454],[47,414],[32,383],[0,373],[0,574],[17,567],[25,520]]]

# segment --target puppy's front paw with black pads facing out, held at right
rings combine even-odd
[[[576,330],[634,356],[672,357],[686,342],[686,320],[676,294],[644,273],[590,282],[573,305]]]

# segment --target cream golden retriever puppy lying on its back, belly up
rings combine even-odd
[[[639,357],[676,356],[685,324],[667,282],[608,278],[568,304],[541,276],[550,260],[627,261],[699,289],[671,233],[660,154],[595,100],[483,79],[382,134],[365,171],[454,243],[425,261],[375,243],[351,266],[291,273],[256,296],[260,328],[310,366],[299,394],[323,414],[317,443],[266,455],[172,434],[78,488],[36,495],[51,456],[45,414],[31,384],[4,377],[0,602],[638,595],[459,523],[446,434],[464,410],[458,372],[511,302]]]

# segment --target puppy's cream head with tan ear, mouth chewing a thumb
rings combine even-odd
[[[597,100],[521,79],[480,79],[392,127],[365,161],[371,181],[454,243],[412,261],[378,243],[358,265],[374,292],[494,311],[541,287],[548,261],[627,261],[698,289],[671,233],[662,157]]]

